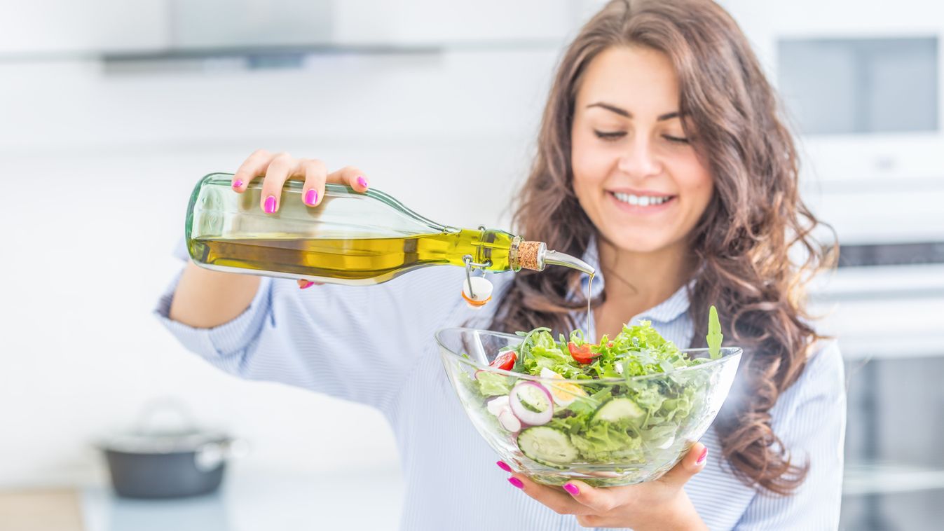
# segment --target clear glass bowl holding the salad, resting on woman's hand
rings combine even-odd
[[[499,368],[522,340],[473,328],[436,332],[449,381],[481,436],[515,472],[557,486],[580,479],[616,487],[666,473],[715,420],[741,357],[737,347],[715,359],[708,349],[676,350],[704,359],[618,378]]]

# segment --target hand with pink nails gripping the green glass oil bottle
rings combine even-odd
[[[244,160],[233,174],[232,188],[243,193],[257,177],[262,177],[259,207],[267,214],[278,212],[282,186],[289,179],[305,180],[301,200],[309,207],[317,207],[321,203],[325,195],[325,183],[344,184],[354,191],[367,191],[367,177],[353,166],[329,173],[325,163],[317,158],[293,158],[285,152],[270,153],[264,149],[257,150]],[[313,284],[316,283],[309,280],[298,281],[298,287],[303,290]]]

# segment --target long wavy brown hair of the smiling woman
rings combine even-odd
[[[611,46],[637,45],[670,58],[680,111],[698,131],[695,148],[711,172],[714,195],[688,235],[697,273],[688,295],[691,347],[705,346],[707,308],[715,305],[731,344],[744,347],[732,396],[715,428],[727,463],[745,484],[788,494],[809,463],[794,463],[770,426],[770,408],[797,380],[820,337],[803,308],[805,285],[827,267],[834,246],[818,244],[817,219],[798,191],[798,158],[776,94],[732,17],[709,0],[615,0],[565,50],[550,90],[531,174],[517,197],[514,226],[529,240],[577,257],[597,229],[572,186],[570,130],[582,73]],[[799,258],[798,258],[799,257]],[[580,274],[522,271],[501,297],[493,328],[579,326],[585,307],[568,292]],[[598,307],[605,293],[592,301]]]

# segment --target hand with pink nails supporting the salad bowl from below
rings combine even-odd
[[[659,479],[626,487],[594,489],[577,480],[564,489],[534,483],[522,473],[508,481],[558,514],[572,514],[584,527],[649,529],[707,529],[683,487],[705,466],[708,449],[696,442],[681,461]],[[502,466],[504,465],[504,466]],[[499,467],[506,468],[499,461]]]

